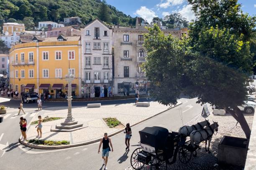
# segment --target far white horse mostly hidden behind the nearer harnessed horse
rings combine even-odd
[[[187,137],[192,133],[193,130],[202,130],[205,126],[209,126],[210,122],[208,120],[204,120],[202,122],[198,122],[195,125],[192,126],[183,126],[179,128],[179,133],[184,135],[184,137]]]

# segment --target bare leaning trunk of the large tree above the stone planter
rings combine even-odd
[[[246,135],[246,138],[250,139],[251,130],[249,128],[248,123],[246,122],[243,112],[241,112],[241,110],[238,107],[235,107],[234,110],[230,110],[229,108],[226,108],[226,111],[228,111],[236,119],[236,121],[239,122],[243,132]]]

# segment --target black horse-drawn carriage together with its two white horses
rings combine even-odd
[[[204,139],[200,138],[200,140],[203,141],[209,140],[214,130],[218,131],[218,123],[214,122],[214,124],[210,125],[207,120],[205,121],[198,123],[197,126],[193,125],[194,127],[192,128],[184,126],[179,129],[179,133],[170,133],[166,128],[157,126],[146,127],[139,131],[141,147],[133,151],[131,166],[136,170],[143,168],[144,165],[150,165],[151,169],[165,170],[167,165],[172,165],[176,162],[177,156],[181,163],[188,163],[192,158],[193,152],[196,153],[197,148],[199,148],[198,140],[191,134],[193,133],[196,136],[201,134]],[[187,128],[188,132],[182,130],[183,128]],[[205,138],[205,133],[207,138]],[[192,140],[186,141],[189,135]]]

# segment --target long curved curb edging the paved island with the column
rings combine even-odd
[[[160,115],[161,113],[166,112],[167,110],[173,109],[174,107],[177,107],[177,106],[179,106],[179,105],[181,105],[181,104],[182,104],[182,102],[178,102],[177,105],[175,105],[175,106],[173,106],[173,107],[171,107],[171,108],[168,108],[168,109],[166,109],[166,110],[164,110],[164,111],[162,111],[162,112],[159,112],[159,113],[157,113],[156,115],[153,115],[153,116],[148,117],[148,118],[146,118],[146,119],[144,119],[144,120],[141,120],[140,122],[137,122],[137,123],[131,125],[130,127],[133,127],[133,126],[135,126],[135,125],[138,125],[139,123],[142,123],[142,122],[144,122],[144,121],[146,121],[146,120],[148,120],[148,119],[151,119],[152,117],[155,117],[155,116],[157,116],[157,115]],[[121,133],[121,132],[123,132],[124,130],[125,130],[125,128],[123,128],[123,129],[121,129],[121,130],[118,130],[117,132],[108,135],[108,137],[112,137],[112,136],[114,136],[114,135],[117,135],[118,133]],[[101,138],[99,138],[99,139],[94,139],[94,140],[89,140],[89,141],[87,141],[87,142],[76,143],[76,144],[72,144],[72,145],[58,145],[58,146],[36,145],[36,144],[28,143],[27,141],[21,141],[20,138],[19,138],[19,142],[20,142],[21,144],[23,144],[23,145],[25,145],[25,146],[28,146],[28,147],[31,147],[31,148],[46,149],[46,150],[47,150],[47,149],[63,149],[63,148],[71,148],[71,147],[81,146],[81,145],[89,145],[89,144],[92,144],[92,143],[99,142],[100,139],[101,139]]]

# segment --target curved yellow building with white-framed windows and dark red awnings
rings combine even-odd
[[[68,69],[75,79],[73,95],[79,97],[81,80],[80,36],[34,37],[10,49],[10,88],[21,92],[49,92],[60,98],[67,91]]]

